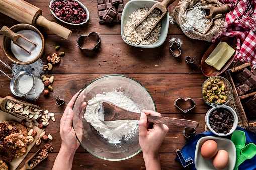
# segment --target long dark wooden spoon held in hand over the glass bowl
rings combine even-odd
[[[140,113],[135,113],[113,104],[102,102],[100,104],[100,109],[98,110],[99,119],[102,121],[115,121],[115,120],[139,120]],[[157,124],[166,124],[173,126],[181,126],[181,127],[192,127],[195,128],[198,126],[198,122],[184,119],[176,119],[169,117],[159,117],[147,115],[147,121],[151,123]]]

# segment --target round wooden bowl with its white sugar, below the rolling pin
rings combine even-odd
[[[17,39],[17,42],[23,48],[31,52],[31,54],[29,54],[25,50],[15,45],[10,38],[4,36],[2,41],[2,49],[5,56],[10,61],[19,65],[28,65],[34,63],[43,55],[45,44],[44,36],[36,27],[29,24],[17,24],[12,26],[10,29],[15,33],[23,35],[37,45],[34,46],[32,43],[29,43],[23,38]]]

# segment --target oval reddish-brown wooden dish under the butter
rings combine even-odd
[[[215,47],[217,47],[217,45],[219,44],[219,42],[226,42],[229,46],[231,46],[235,51],[236,51],[236,45],[237,45],[237,39],[235,37],[222,37],[218,40],[216,40],[209,48],[208,50],[205,52],[202,60],[201,60],[201,70],[202,73],[206,76],[206,77],[212,77],[212,76],[218,76],[221,73],[223,73],[229,66],[230,64],[233,62],[233,60],[235,59],[235,56],[233,55],[228,61],[227,63],[222,67],[221,70],[217,70],[215,69],[213,66],[210,66],[208,64],[206,64],[205,60],[207,59],[207,57],[211,54],[211,52],[215,49]]]

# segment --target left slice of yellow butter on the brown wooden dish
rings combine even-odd
[[[216,64],[227,49],[227,46],[228,44],[226,42],[219,42],[217,47],[212,51],[209,57],[207,57],[205,62],[210,66]]]

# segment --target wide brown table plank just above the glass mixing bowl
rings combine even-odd
[[[78,36],[72,36],[70,41],[59,36],[44,37],[45,54],[55,53],[56,45],[61,46],[58,52],[65,52],[61,62],[54,65],[52,74],[201,74],[201,58],[210,45],[199,40],[192,43],[191,39],[180,35],[167,36],[164,44],[157,48],[135,48],[126,44],[119,35],[104,35],[98,50],[84,51],[76,45]],[[172,56],[169,51],[172,44],[169,40],[173,37],[182,41],[180,57]],[[0,41],[2,38],[0,36]],[[46,63],[45,56],[41,59]],[[187,64],[186,56],[193,57],[195,63]],[[0,53],[0,58],[12,65],[3,53]]]

